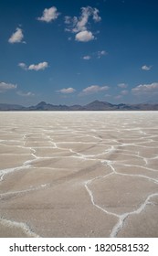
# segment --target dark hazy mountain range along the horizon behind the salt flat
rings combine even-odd
[[[16,104],[0,103],[0,111],[158,111],[158,103],[112,104],[107,101],[92,101],[86,105],[53,105],[45,101],[35,106],[24,107]]]

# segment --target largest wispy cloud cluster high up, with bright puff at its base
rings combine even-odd
[[[79,17],[65,16],[65,24],[67,25],[66,31],[77,33],[75,38],[80,42],[88,42],[94,39],[94,36],[88,29],[90,17],[92,17],[94,22],[99,22],[101,19],[99,16],[99,10],[97,8],[92,8],[91,6],[87,6],[81,8],[81,14]]]

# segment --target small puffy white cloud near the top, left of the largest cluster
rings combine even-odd
[[[46,8],[43,11],[43,16],[37,17],[37,20],[46,21],[48,23],[48,22],[51,22],[52,20],[57,19],[58,16],[59,16],[59,13],[57,8],[55,6],[52,6],[49,9]]]

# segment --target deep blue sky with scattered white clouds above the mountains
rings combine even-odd
[[[0,1],[0,102],[158,97],[157,0]]]

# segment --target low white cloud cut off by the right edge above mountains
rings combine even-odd
[[[158,93],[158,82],[153,82],[150,84],[140,84],[135,88],[132,88],[134,94],[155,94]]]

